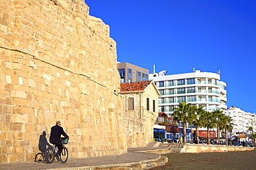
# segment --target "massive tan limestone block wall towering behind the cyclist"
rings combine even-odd
[[[71,158],[127,151],[116,57],[84,0],[1,0],[0,162],[33,161],[57,120]]]

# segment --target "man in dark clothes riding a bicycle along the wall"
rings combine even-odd
[[[56,125],[51,127],[51,136],[50,136],[50,142],[52,144],[55,144],[57,147],[57,157],[60,157],[60,153],[62,153],[63,145],[62,140],[60,138],[61,135],[63,135],[65,138],[69,138],[68,135],[65,133],[63,128],[61,127],[60,121],[56,122]]]

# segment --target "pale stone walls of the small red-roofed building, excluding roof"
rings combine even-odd
[[[134,98],[134,110],[128,110],[128,98]],[[147,111],[149,98],[149,111]],[[153,111],[155,100],[155,111]],[[153,85],[149,85],[143,93],[122,94],[124,109],[124,126],[127,147],[145,147],[154,141],[154,123],[158,117],[158,94]]]

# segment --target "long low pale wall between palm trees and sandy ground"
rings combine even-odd
[[[226,152],[226,151],[252,151],[254,147],[233,147],[223,145],[194,145],[187,144],[181,153]]]

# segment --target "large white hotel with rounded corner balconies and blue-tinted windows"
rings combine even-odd
[[[227,109],[226,83],[220,81],[220,74],[200,72],[166,75],[166,71],[149,74],[156,83],[161,97],[158,98],[159,112],[169,116],[179,102],[203,106],[205,110]]]

